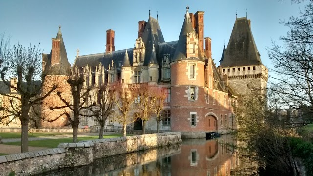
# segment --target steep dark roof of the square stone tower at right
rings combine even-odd
[[[220,66],[248,66],[262,64],[260,54],[246,17],[237,18]]]

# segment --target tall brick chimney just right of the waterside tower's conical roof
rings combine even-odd
[[[198,45],[202,56],[204,55],[204,12],[197,11],[195,13],[195,31],[198,34]]]

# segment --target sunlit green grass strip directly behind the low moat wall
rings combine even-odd
[[[103,138],[112,138],[112,137],[121,137],[122,134],[111,134],[104,135]],[[92,140],[98,139],[98,136],[89,136],[89,137],[78,137],[78,141],[81,140]],[[56,148],[61,142],[73,142],[72,138],[63,138],[63,139],[46,139],[38,141],[29,141],[29,146],[33,147],[47,147],[47,148]],[[8,142],[7,145],[21,145],[21,142]]]

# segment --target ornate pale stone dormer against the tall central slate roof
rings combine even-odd
[[[141,37],[139,37],[138,39],[136,39],[135,48],[133,50],[133,66],[143,66],[145,50],[145,45]]]

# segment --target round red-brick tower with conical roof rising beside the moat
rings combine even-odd
[[[204,58],[198,45],[198,36],[187,12],[171,65],[171,130],[202,132],[199,123],[204,115]],[[203,97],[202,97],[203,95]],[[205,133],[204,133],[205,136]],[[203,136],[202,136],[203,137]]]

